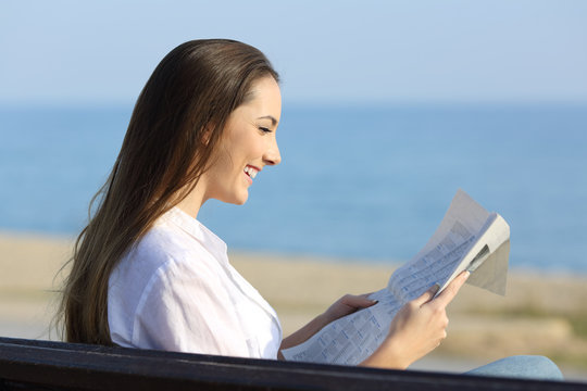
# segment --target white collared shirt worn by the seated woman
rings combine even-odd
[[[276,358],[275,311],[228,263],[226,244],[178,207],[112,272],[108,323],[114,343],[255,358]]]

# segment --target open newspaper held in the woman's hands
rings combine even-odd
[[[439,293],[466,269],[467,283],[504,295],[509,253],[508,223],[458,190],[426,245],[394,272],[387,288],[370,297],[377,304],[328,324],[282,353],[289,361],[357,365],[385,340],[396,313],[435,283]]]

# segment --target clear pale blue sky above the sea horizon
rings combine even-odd
[[[1,104],[133,104],[195,38],[263,50],[286,102],[587,103],[587,1],[0,3]]]

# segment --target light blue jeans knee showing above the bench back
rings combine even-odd
[[[563,380],[561,370],[544,356],[520,355],[498,360],[464,375]]]

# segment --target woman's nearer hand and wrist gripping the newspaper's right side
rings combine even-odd
[[[446,307],[469,275],[461,273],[436,298],[438,285],[405,304],[391,321],[386,340],[362,365],[404,369],[436,349],[447,337]]]

